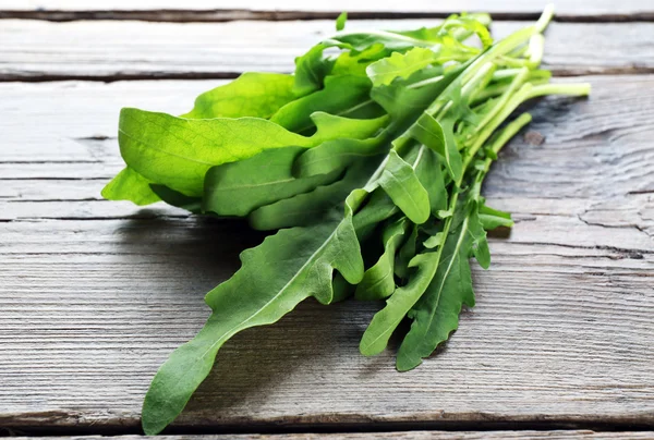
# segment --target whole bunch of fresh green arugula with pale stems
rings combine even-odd
[[[495,44],[486,14],[410,32],[342,32],[344,19],[295,60],[294,75],[243,74],[179,118],[121,112],[126,168],[106,198],[278,230],[207,294],[213,315],[145,396],[146,433],[181,413],[228,339],[310,296],[386,300],[361,352],[382,352],[409,318],[397,368],[421,364],[474,305],[469,258],[488,267],[485,231],[512,225],[480,195],[500,148],[531,120],[509,118],[535,97],[590,91],[548,84],[537,69],[550,9]]]

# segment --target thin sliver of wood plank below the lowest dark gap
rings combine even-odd
[[[443,439],[443,440],[477,440],[477,439],[652,439],[654,431],[595,432],[591,430],[554,430],[554,431],[395,431],[395,432],[346,432],[346,433],[272,433],[272,435],[214,435],[214,436],[159,436],[161,440],[359,440],[370,439]],[[15,440],[95,440],[100,436],[85,437],[14,437]],[[116,440],[144,440],[142,436],[116,436]]]

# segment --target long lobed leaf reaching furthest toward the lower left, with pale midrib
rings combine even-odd
[[[207,377],[218,350],[235,333],[278,321],[303,300],[334,300],[338,270],[349,283],[363,277],[363,260],[352,217],[293,228],[241,254],[242,268],[206,296],[213,314],[190,342],[159,368],[143,403],[143,428],[160,432],[182,412]]]

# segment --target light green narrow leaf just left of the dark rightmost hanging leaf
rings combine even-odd
[[[375,314],[363,333],[359,349],[364,356],[374,356],[386,349],[395,329],[432,282],[437,266],[436,253],[419,254],[411,259],[409,268],[416,270],[412,273],[409,283],[392,292],[386,301],[386,306]]]

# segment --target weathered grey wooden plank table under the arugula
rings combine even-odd
[[[155,370],[261,240],[102,200],[121,107],[182,113],[240,72],[289,72],[346,9],[351,27],[395,28],[486,10],[502,36],[543,5],[0,2],[0,435],[137,436]],[[230,341],[171,435],[654,438],[654,3],[558,11],[545,64],[593,94],[540,102],[494,167],[485,196],[517,224],[446,347],[398,374],[397,341],[358,351],[378,305],[307,302]]]

